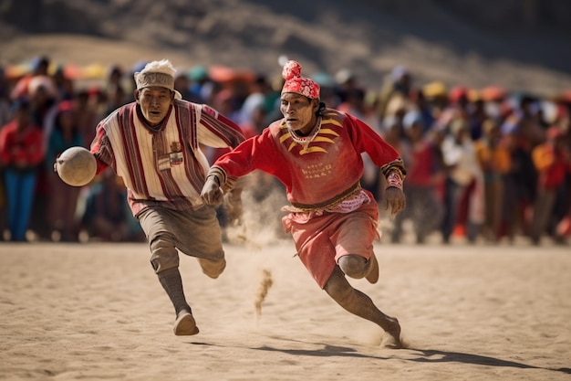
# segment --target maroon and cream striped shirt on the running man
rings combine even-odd
[[[146,206],[202,206],[210,164],[201,145],[234,148],[243,141],[240,128],[207,105],[175,100],[154,129],[132,102],[99,122],[91,153],[98,159],[98,173],[110,166],[122,177],[136,216]]]

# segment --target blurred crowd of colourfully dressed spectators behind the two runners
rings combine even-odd
[[[109,67],[85,84],[48,57],[29,70],[0,68],[0,232],[5,240],[141,241],[126,192],[110,170],[83,187],[53,171],[57,155],[89,147],[97,123],[133,101],[133,73]],[[327,107],[357,116],[401,155],[407,166],[407,208],[389,221],[393,243],[436,237],[443,243],[527,239],[566,244],[571,235],[571,90],[538,96],[498,86],[417,83],[398,66],[361,83],[348,69],[311,76]],[[226,68],[179,68],[175,88],[238,123],[246,137],[281,118],[280,70],[256,74]],[[222,152],[207,152],[214,160]],[[384,178],[367,156],[363,187],[382,199]],[[271,180],[253,189],[262,201]],[[257,193],[256,193],[257,192]],[[279,209],[279,206],[275,206]],[[223,222],[223,215],[221,215]]]

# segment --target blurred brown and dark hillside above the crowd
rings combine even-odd
[[[420,83],[571,89],[571,3],[496,0],[5,0],[2,64],[37,54],[86,65],[171,58],[274,75],[277,58],[306,74],[348,68],[378,86],[397,65]]]

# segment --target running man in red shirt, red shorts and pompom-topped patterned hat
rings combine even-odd
[[[368,153],[387,177],[386,202],[393,215],[405,206],[399,154],[364,122],[327,109],[319,101],[319,85],[301,76],[296,61],[288,61],[282,74],[284,118],[216,160],[202,198],[220,204],[221,185],[255,169],[277,177],[291,204],[282,222],[306,269],[341,307],[377,323],[400,346],[398,320],[380,312],[345,277],[379,279],[373,253],[379,215],[374,197],[359,184],[361,153]]]

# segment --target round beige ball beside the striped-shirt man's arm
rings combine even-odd
[[[97,171],[97,161],[93,153],[83,147],[71,147],[57,158],[57,175],[67,185],[87,185]]]

